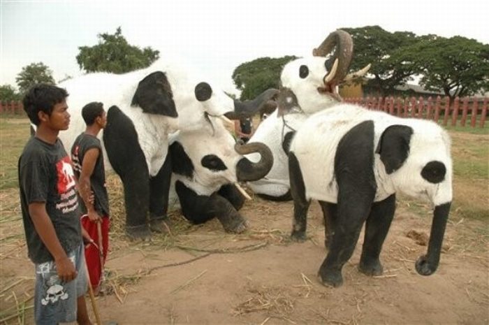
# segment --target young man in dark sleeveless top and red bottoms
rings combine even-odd
[[[87,127],[73,143],[71,159],[82,198],[80,202],[84,214],[82,225],[91,238],[98,239],[95,240],[98,247],[87,246],[85,250],[90,282],[94,290],[98,291],[108,252],[109,230],[109,200],[105,188],[103,152],[100,140],[97,138],[98,133],[107,124],[103,103],[88,103],[82,108],[82,117]],[[97,228],[101,231],[98,232]],[[103,252],[102,259],[99,255],[100,249]]]

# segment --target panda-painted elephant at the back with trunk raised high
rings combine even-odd
[[[327,59],[326,55],[333,50],[333,55]],[[338,29],[314,49],[312,56],[295,59],[284,66],[280,76],[279,97],[282,99],[278,106],[293,106],[294,114],[279,117],[276,110],[258,126],[249,140],[250,143],[268,145],[274,157],[270,173],[249,183],[256,194],[276,201],[291,200],[287,150],[293,133],[309,115],[341,102],[337,85],[367,72],[370,66],[347,75],[352,55],[351,36]],[[250,159],[257,158],[251,156]]]

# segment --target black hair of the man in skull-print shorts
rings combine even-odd
[[[38,113],[43,111],[44,113],[51,115],[52,109],[58,103],[66,100],[68,92],[66,89],[56,87],[54,85],[37,84],[29,89],[29,92],[25,94],[22,104],[24,105],[25,113],[29,117],[32,123],[39,125]]]

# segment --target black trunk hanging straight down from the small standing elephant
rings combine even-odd
[[[421,275],[432,275],[437,270],[450,205],[451,202],[448,202],[435,207],[430,243],[428,243],[428,254],[419,257],[418,261],[416,261],[416,271]]]

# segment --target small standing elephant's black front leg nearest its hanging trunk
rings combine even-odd
[[[380,252],[395,212],[395,194],[372,204],[365,223],[365,239],[358,270],[366,275],[381,275]]]

